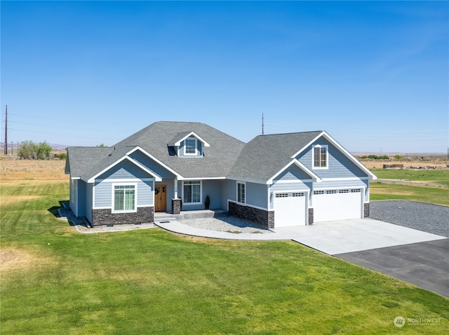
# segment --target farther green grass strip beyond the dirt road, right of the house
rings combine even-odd
[[[379,179],[399,179],[407,182],[426,182],[429,184],[449,185],[449,169],[444,170],[371,170]]]

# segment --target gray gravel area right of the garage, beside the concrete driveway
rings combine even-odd
[[[449,238],[449,207],[407,200],[371,201],[370,218]]]

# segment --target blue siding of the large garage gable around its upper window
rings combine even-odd
[[[320,170],[312,168],[312,148],[316,144],[328,146],[328,169]],[[323,137],[317,139],[296,158],[320,178],[368,177],[360,167],[351,162],[347,156],[344,156],[340,150]]]

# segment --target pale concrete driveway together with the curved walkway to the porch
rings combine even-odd
[[[205,238],[294,240],[331,255],[445,239],[443,236],[368,218],[319,222],[311,226],[275,228],[272,233],[264,234],[210,231],[186,226],[177,221],[156,222],[156,225],[174,233]]]

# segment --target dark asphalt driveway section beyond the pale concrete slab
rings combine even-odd
[[[449,238],[334,256],[449,297]]]

